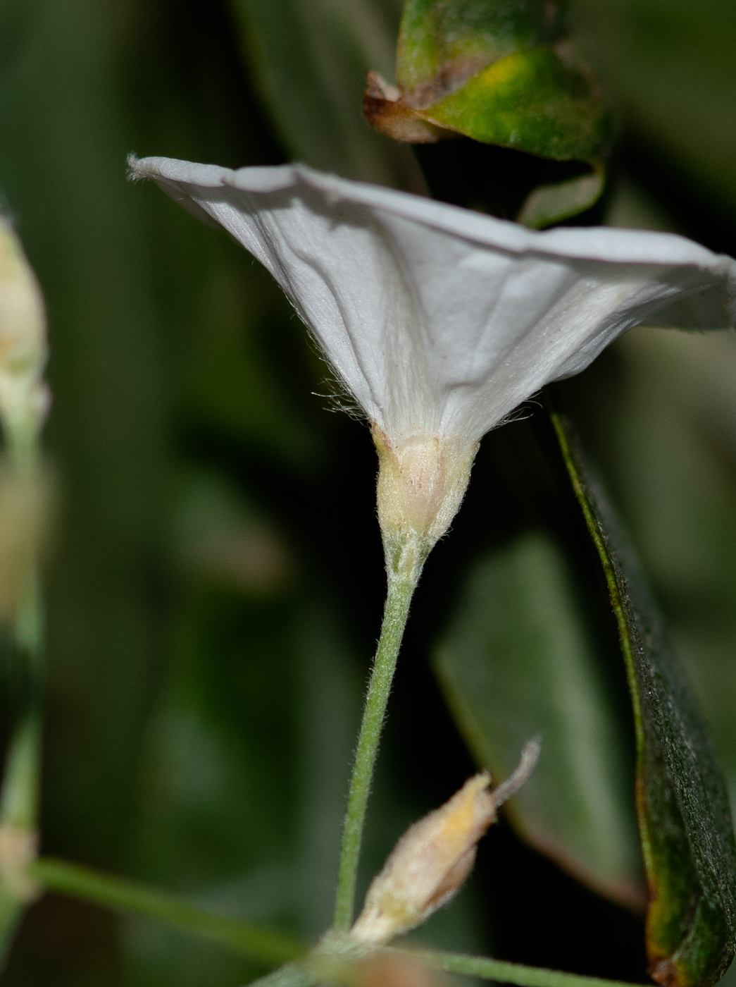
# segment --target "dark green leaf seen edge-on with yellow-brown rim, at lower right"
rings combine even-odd
[[[618,520],[569,425],[552,414],[619,624],[636,731],[651,975],[708,987],[736,950],[736,846],[712,742]]]

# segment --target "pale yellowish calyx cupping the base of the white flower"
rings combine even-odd
[[[393,440],[377,425],[378,519],[387,563],[399,545],[415,543],[420,561],[450,527],[468,488],[478,442],[416,431]]]

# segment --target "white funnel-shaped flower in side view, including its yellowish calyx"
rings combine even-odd
[[[734,323],[736,262],[683,237],[540,233],[300,165],[130,164],[279,282],[373,423],[385,538],[413,533],[420,555],[449,526],[480,437],[544,384],[642,321]]]

